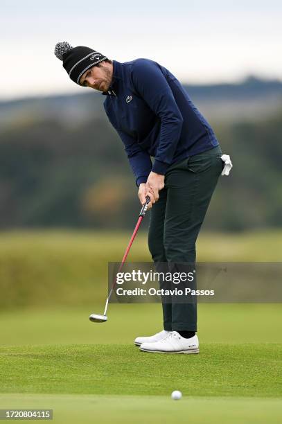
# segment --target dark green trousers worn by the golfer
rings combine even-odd
[[[221,156],[218,146],[168,168],[159,200],[150,209],[148,246],[156,269],[157,263],[195,264],[197,236],[224,166]],[[196,301],[171,299],[162,306],[165,330],[197,331]]]

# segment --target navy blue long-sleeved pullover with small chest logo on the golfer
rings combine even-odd
[[[219,144],[181,83],[153,60],[113,60],[112,82],[103,94],[105,112],[125,145],[137,186],[151,170],[165,175],[171,164]]]

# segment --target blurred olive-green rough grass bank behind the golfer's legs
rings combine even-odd
[[[146,229],[148,222],[144,222]],[[131,233],[7,231],[0,233],[0,308],[91,306],[107,292],[107,263],[118,262]],[[282,231],[200,233],[197,260],[281,261]],[[128,260],[151,262],[140,232]]]

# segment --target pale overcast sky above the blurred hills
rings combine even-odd
[[[156,60],[182,82],[282,80],[282,1],[119,0],[0,3],[0,98],[81,92],[59,41],[126,62]]]

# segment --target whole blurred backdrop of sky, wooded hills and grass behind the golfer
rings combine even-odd
[[[107,263],[121,260],[140,204],[105,96],[69,79],[53,54],[59,41],[159,62],[213,126],[233,169],[220,177],[198,260],[281,261],[281,12],[273,0],[1,2],[3,344],[130,342],[161,326],[159,305],[112,305],[106,330],[87,321],[103,312]],[[150,260],[147,229],[148,217],[129,260]],[[249,314],[254,340],[265,325],[271,341],[262,308],[278,322],[279,305],[201,304],[202,335],[214,341],[209,326],[221,322],[219,341],[242,340]]]

